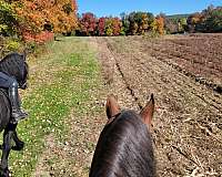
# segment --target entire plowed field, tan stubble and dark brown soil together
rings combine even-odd
[[[159,176],[222,176],[222,35],[90,41],[122,106],[140,111],[154,94]]]

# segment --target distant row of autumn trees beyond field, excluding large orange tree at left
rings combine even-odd
[[[149,32],[222,32],[222,7],[210,6],[193,14],[154,17],[150,12],[121,13],[120,18],[97,18],[92,12],[78,17],[77,35],[140,35]]]

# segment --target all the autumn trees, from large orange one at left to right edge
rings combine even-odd
[[[0,37],[46,41],[56,33],[75,35],[141,35],[183,32],[222,32],[222,7],[186,15],[154,17],[151,12],[97,18],[79,15],[75,0],[0,0]]]

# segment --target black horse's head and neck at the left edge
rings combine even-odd
[[[16,77],[22,90],[27,88],[29,76],[29,66],[26,58],[26,54],[10,53],[0,61],[0,71]]]

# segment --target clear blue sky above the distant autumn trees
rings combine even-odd
[[[77,0],[78,12],[93,12],[97,17],[119,15],[121,12],[149,11],[153,14],[192,13],[209,4],[222,6],[222,0]]]

